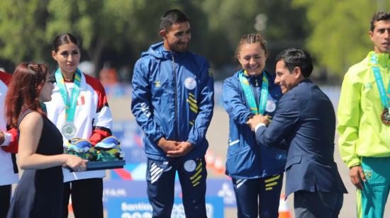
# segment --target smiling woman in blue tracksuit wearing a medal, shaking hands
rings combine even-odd
[[[286,152],[257,144],[246,124],[258,113],[272,118],[282,96],[274,76],[264,71],[264,44],[260,34],[244,35],[236,54],[243,69],[223,82],[230,127],[226,173],[233,180],[238,217],[278,217]]]

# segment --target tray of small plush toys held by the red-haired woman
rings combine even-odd
[[[106,137],[95,147],[87,139],[70,139],[64,147],[65,154],[73,154],[88,160],[87,171],[123,168],[126,161],[121,142],[116,137]],[[72,169],[69,169],[72,172]]]

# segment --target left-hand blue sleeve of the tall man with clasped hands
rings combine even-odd
[[[148,82],[149,74],[150,70],[143,63],[143,59],[139,59],[135,63],[133,72],[131,112],[145,135],[153,142],[157,142],[164,134],[153,117],[152,96]]]

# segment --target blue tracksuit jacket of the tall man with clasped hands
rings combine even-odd
[[[172,160],[157,147],[161,137],[191,142],[184,159],[203,157],[213,116],[213,75],[204,57],[172,52],[163,43],[150,46],[135,63],[131,110],[145,132],[148,158]]]

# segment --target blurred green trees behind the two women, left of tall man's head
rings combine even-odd
[[[0,57],[14,63],[52,62],[52,40],[60,33],[82,39],[82,59],[96,73],[105,51],[125,53],[135,62],[139,50],[157,40],[160,13],[171,1],[4,0],[0,7]],[[115,57],[113,57],[115,58]]]

